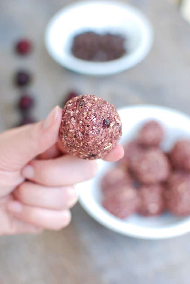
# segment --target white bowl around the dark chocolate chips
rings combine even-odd
[[[128,38],[129,53],[109,62],[89,62],[71,53],[72,38],[84,31],[119,33]],[[45,46],[60,65],[88,75],[110,75],[129,69],[149,53],[153,42],[147,18],[128,4],[112,1],[84,1],[57,12],[45,31]]]

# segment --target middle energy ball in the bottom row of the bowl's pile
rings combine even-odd
[[[164,187],[162,185],[144,185],[139,188],[138,193],[140,215],[156,216],[164,212]]]

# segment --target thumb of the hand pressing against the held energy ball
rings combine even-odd
[[[62,109],[57,106],[43,121],[2,133],[1,168],[9,171],[19,170],[35,156],[54,145],[58,139],[61,118]]]

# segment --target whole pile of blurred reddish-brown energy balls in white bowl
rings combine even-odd
[[[120,219],[133,213],[156,216],[169,211],[190,215],[190,140],[164,153],[164,130],[147,122],[136,140],[124,145],[125,155],[101,180],[103,207]]]

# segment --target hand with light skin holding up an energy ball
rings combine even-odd
[[[62,109],[36,124],[0,134],[0,235],[60,230],[77,202],[73,184],[94,177],[96,161],[65,154],[58,132]],[[106,161],[123,157],[118,144]]]

